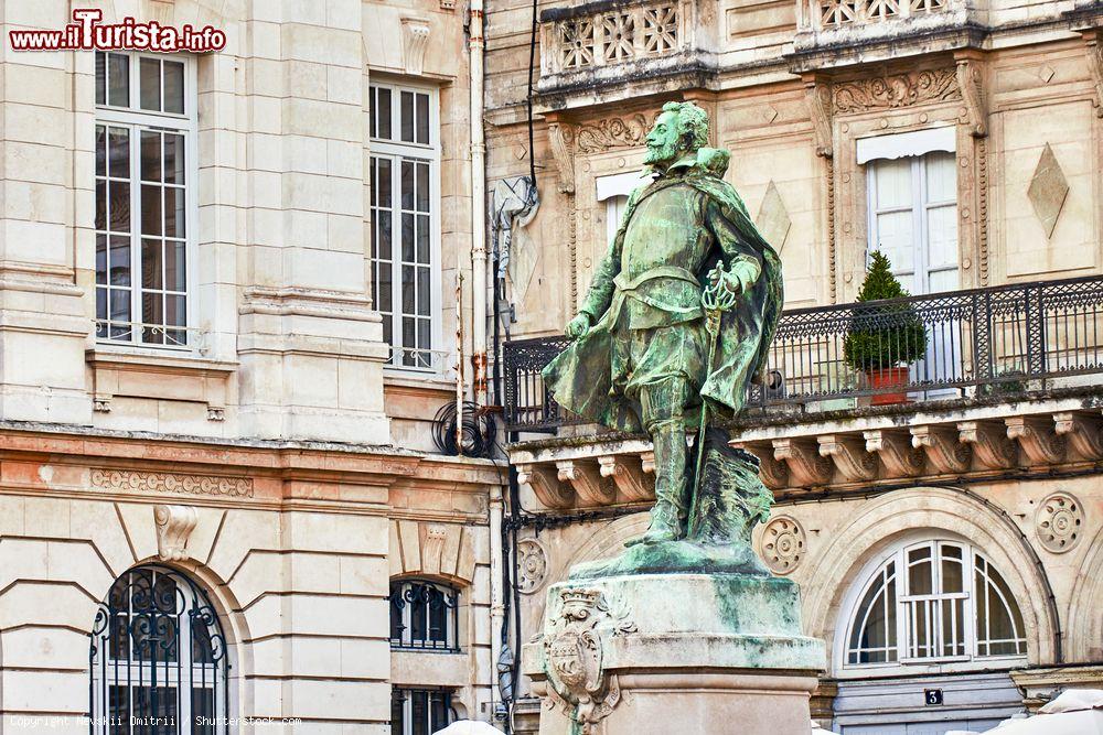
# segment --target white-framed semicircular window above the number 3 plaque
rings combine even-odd
[[[968,544],[924,541],[892,552],[864,581],[844,666],[1026,656],[1007,582]]]

